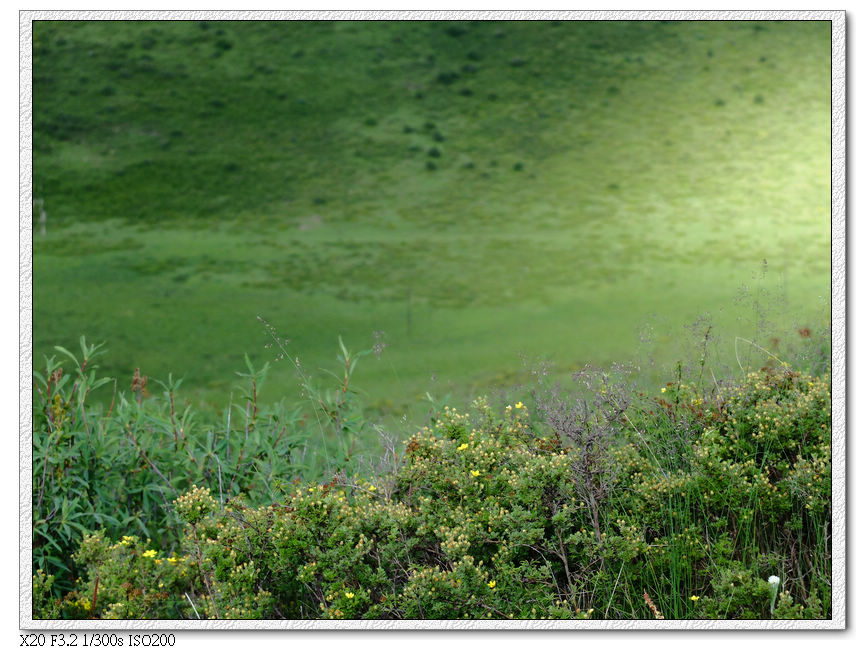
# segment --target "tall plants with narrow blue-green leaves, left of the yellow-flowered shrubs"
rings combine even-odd
[[[312,471],[304,465],[301,409],[258,402],[267,366],[256,369],[246,359],[242,402],[221,416],[181,405],[181,380],[171,376],[156,382],[161,395],[149,395],[139,371],[129,393],[114,382],[105,411],[88,401],[113,381],[97,375],[94,359],[103,348],[82,338],[81,350],[79,360],[58,348],[71,373],[55,357],[34,373],[33,564],[55,577],[56,594],[74,585],[71,555],[86,532],[176,544],[171,500],[194,483],[212,486],[221,503],[241,493],[269,503],[293,476]]]

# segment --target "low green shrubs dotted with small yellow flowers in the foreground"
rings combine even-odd
[[[173,502],[185,575],[97,533],[75,556],[86,579],[57,601],[40,577],[34,602],[98,617],[831,616],[828,375],[765,368],[654,397],[579,379],[586,391],[532,408],[443,407],[377,476],[338,470],[264,504],[196,487]]]

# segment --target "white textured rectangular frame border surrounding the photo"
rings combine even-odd
[[[832,24],[832,612],[805,621],[64,621],[32,610],[34,20],[810,20]],[[843,11],[21,11],[19,13],[19,625],[22,630],[843,630],[847,621],[846,138]]]

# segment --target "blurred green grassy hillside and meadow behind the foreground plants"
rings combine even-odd
[[[140,368],[223,407],[246,354],[296,401],[264,319],[316,376],[340,337],[386,344],[353,381],[393,415],[538,361],[666,381],[709,323],[759,366],[735,337],[781,354],[828,322],[829,36],[36,22],[34,367],[83,335],[118,391]]]

